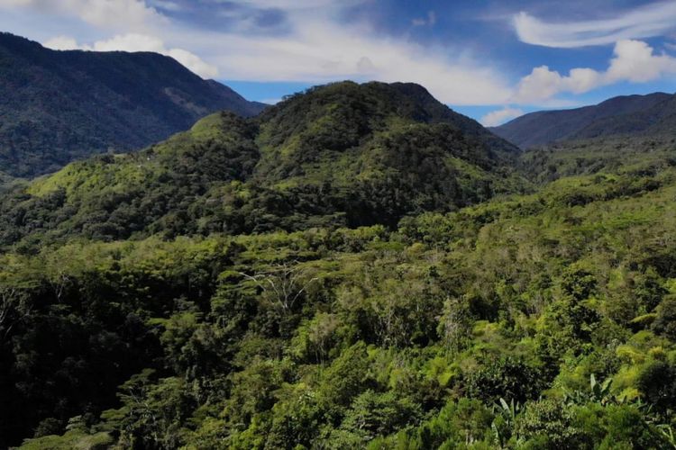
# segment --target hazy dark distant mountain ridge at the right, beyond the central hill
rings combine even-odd
[[[531,112],[490,130],[520,148],[573,139],[676,134],[676,95],[626,95],[572,110]]]

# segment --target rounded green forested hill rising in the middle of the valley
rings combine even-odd
[[[394,226],[521,190],[516,157],[419,85],[324,85],[19,185],[0,204],[0,239]]]

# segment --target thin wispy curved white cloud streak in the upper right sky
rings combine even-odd
[[[548,23],[519,13],[513,17],[519,39],[545,47],[574,48],[605,45],[617,40],[660,36],[676,29],[676,2],[662,1],[604,19]]]

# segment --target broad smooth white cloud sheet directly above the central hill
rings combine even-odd
[[[448,50],[381,38],[359,24],[347,27],[321,21],[297,25],[283,37],[232,34],[213,39],[219,45],[206,49],[206,44],[206,54],[230,79],[411,81],[453,104],[504,103],[511,94],[496,70],[469,55],[459,52],[449,57]]]

